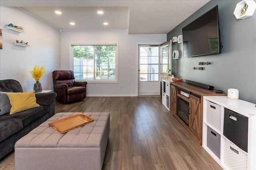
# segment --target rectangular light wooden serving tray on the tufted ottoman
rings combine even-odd
[[[57,121],[53,121],[51,123],[48,123],[48,125],[56,130],[58,133],[62,134],[76,129],[77,127],[83,126],[91,121],[94,120],[88,115],[78,114]]]

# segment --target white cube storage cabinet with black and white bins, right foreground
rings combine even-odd
[[[227,96],[204,96],[202,137],[203,148],[222,168],[256,169],[255,104]]]

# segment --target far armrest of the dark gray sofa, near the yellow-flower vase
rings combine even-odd
[[[50,105],[57,96],[56,93],[36,93],[36,103],[39,105]]]

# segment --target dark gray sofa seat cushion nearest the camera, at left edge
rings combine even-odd
[[[12,136],[14,133],[17,133],[22,129],[23,129],[22,119],[13,118],[13,119],[1,120],[0,142],[4,141],[4,139],[7,139],[8,137]]]

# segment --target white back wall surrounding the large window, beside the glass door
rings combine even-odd
[[[87,96],[137,96],[138,44],[161,44],[166,34],[129,35],[126,31],[62,31],[61,69],[70,68],[70,43],[118,42],[118,83],[87,84]],[[136,66],[130,70],[130,66]],[[122,85],[122,89],[120,89]]]

